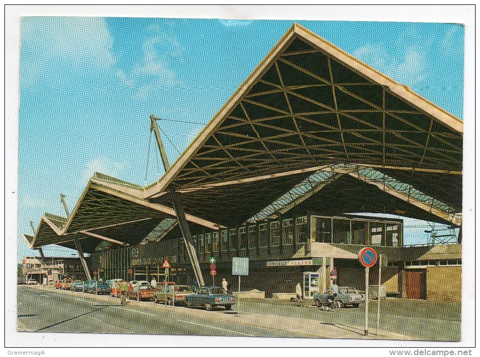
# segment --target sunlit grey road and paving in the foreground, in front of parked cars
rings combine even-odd
[[[382,339],[459,340],[460,305],[417,300],[381,302],[376,336],[376,301],[370,302],[369,336]],[[236,307],[235,307],[236,309]],[[323,312],[274,300],[241,301],[240,315],[218,308],[170,307],[110,296],[18,287],[19,331],[159,335],[366,338],[364,309]]]

